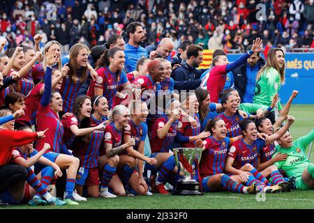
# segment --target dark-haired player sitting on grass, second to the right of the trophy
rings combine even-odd
[[[257,128],[253,121],[241,121],[240,128],[244,138],[232,144],[227,155],[225,171],[230,174],[238,174],[242,183],[246,183],[246,185],[256,183],[258,191],[274,193],[290,190],[292,185],[289,185],[283,179],[283,176],[274,165],[264,170],[271,171],[271,179],[276,184],[274,186],[255,168],[257,167],[257,157],[260,150],[265,145],[272,144],[275,140],[279,139],[293,122],[294,118],[291,118],[285,127],[267,137],[266,140],[262,140],[257,139]]]

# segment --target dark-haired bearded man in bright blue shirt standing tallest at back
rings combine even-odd
[[[128,44],[124,53],[126,54],[126,69],[128,72],[132,72],[136,68],[137,60],[142,56],[148,57],[147,50],[140,45],[144,43],[144,29],[142,24],[138,22],[132,22],[126,27],[126,33],[128,35]]]

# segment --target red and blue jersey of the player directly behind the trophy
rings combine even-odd
[[[195,114],[194,119],[197,122],[197,125],[194,127],[188,121],[188,118],[184,118],[181,115],[178,123],[178,133],[182,134],[184,137],[194,137],[201,132],[200,116]],[[186,148],[195,148],[195,141],[189,141],[187,143],[181,144],[182,147]]]

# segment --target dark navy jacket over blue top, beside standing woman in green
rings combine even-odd
[[[260,70],[266,63],[266,61],[260,56],[260,59],[257,61],[258,70]],[[234,89],[236,89],[240,95],[241,100],[243,100],[244,93],[246,93],[246,84],[248,83],[248,77],[246,76],[246,66],[248,63],[243,63],[238,68],[232,70],[234,77]]]

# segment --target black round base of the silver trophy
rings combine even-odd
[[[179,180],[173,195],[202,195],[200,184],[196,180]]]

